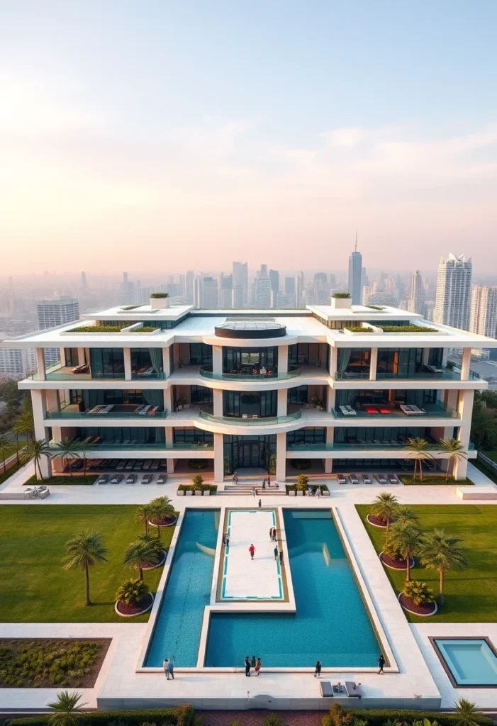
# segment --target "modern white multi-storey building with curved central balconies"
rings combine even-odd
[[[36,348],[38,373],[19,384],[31,391],[36,438],[86,442],[97,469],[159,460],[172,472],[195,458],[218,482],[244,468],[283,482],[302,459],[311,476],[409,470],[403,445],[415,436],[432,444],[435,468],[446,461],[440,439],[476,456],[473,396],[487,383],[470,372],[470,351],[497,340],[342,298],[292,311],[115,307],[83,319],[91,332],[73,323],[2,345]],[[421,330],[406,330],[414,323]],[[138,334],[143,326],[153,332]],[[57,369],[46,368],[47,347],[59,348]],[[460,369],[450,348],[464,351]],[[466,467],[457,462],[459,477]]]

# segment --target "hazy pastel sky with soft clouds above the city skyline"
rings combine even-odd
[[[2,272],[497,272],[496,0],[1,0]]]

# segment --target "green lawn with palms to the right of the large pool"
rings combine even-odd
[[[446,602],[431,618],[406,613],[411,622],[495,622],[497,620],[497,507],[492,505],[413,506],[423,531],[435,527],[460,537],[464,542],[468,567],[445,576]],[[381,552],[384,530],[366,522],[369,505],[356,505],[377,552]],[[405,573],[385,568],[398,593]],[[438,572],[425,570],[416,563],[412,578],[427,582],[438,594]]]

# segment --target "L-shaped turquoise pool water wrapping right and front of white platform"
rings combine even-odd
[[[376,666],[377,637],[332,515],[284,510],[297,613],[225,614],[210,619],[206,666]],[[285,553],[286,554],[286,553]]]

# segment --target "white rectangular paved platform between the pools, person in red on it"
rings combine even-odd
[[[283,583],[279,562],[274,559],[276,542],[269,530],[276,527],[275,510],[230,510],[229,547],[224,554],[222,600],[282,600]],[[250,560],[249,547],[255,547]]]

